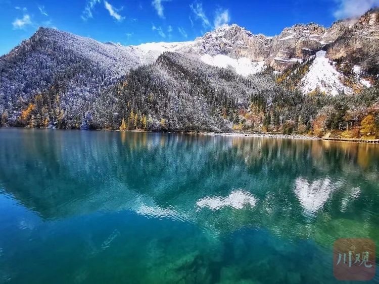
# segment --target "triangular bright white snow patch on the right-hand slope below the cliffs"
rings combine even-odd
[[[321,92],[333,96],[340,92],[351,94],[353,90],[342,84],[340,78],[343,77],[329,60],[325,58],[326,51],[318,51],[316,58],[309,68],[309,72],[301,80],[301,89],[304,93],[309,93],[319,88]]]

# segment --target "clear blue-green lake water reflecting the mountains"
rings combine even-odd
[[[0,283],[338,282],[378,181],[370,144],[0,129]]]

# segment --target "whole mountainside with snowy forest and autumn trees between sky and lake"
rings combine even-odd
[[[372,17],[377,12],[357,20],[356,40],[358,32],[370,35],[370,42],[376,36]],[[353,29],[341,25],[344,22],[329,29],[296,25],[273,39],[232,25],[194,42],[134,47],[40,28],[0,58],[1,126],[316,136],[334,131],[346,137],[374,138],[379,133],[378,63],[371,61],[377,58],[376,47],[367,49],[366,40],[359,49],[357,41],[355,45],[349,41],[350,51],[343,54],[351,54],[338,57],[341,38]],[[255,42],[262,38],[274,53],[249,55],[259,51]],[[298,43],[291,47],[295,39],[323,50],[301,48]],[[315,40],[317,44],[312,43]],[[219,48],[218,41],[227,47]],[[291,58],[283,46],[303,58]],[[246,57],[239,61],[236,54],[241,50],[266,62]],[[206,64],[204,54],[210,60],[215,54],[219,57]],[[359,56],[354,59],[352,54]],[[225,59],[239,65],[217,62]],[[254,70],[241,72],[235,66]]]

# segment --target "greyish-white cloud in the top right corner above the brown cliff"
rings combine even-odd
[[[361,16],[367,10],[379,6],[379,0],[335,0],[335,2],[338,8],[334,16],[337,19]]]

